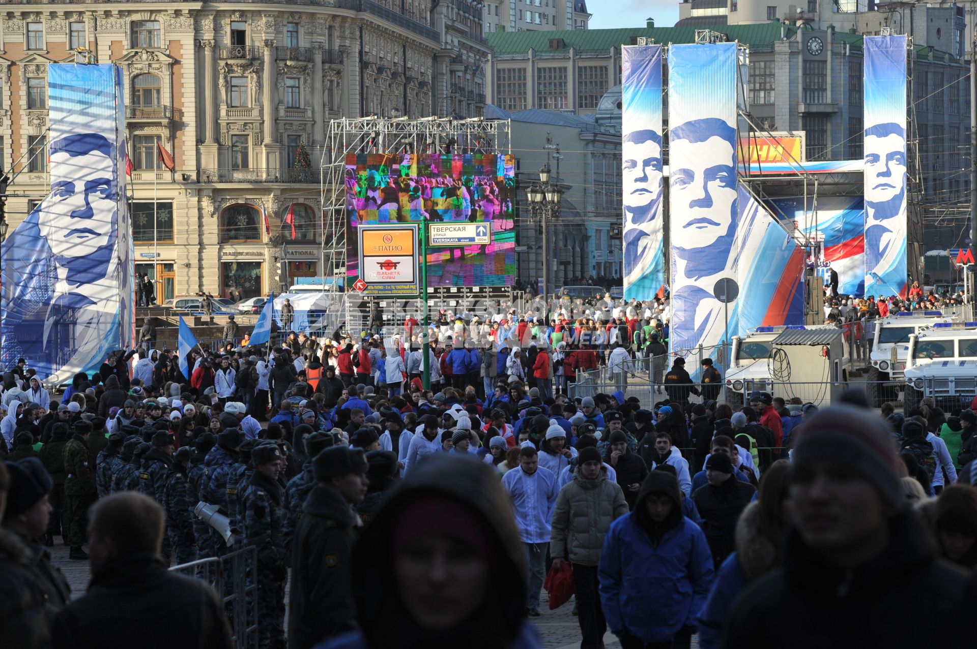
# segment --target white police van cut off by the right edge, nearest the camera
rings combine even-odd
[[[906,346],[906,412],[927,396],[947,414],[968,406],[977,391],[977,322],[937,323]]]

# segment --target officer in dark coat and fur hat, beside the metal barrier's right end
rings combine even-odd
[[[310,647],[355,627],[351,556],[369,465],[361,449],[330,446],[313,459],[316,484],[295,529],[290,646]]]

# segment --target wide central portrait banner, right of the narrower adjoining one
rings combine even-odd
[[[737,281],[736,43],[669,48],[668,125],[669,340],[714,356],[736,307],[716,297],[719,280]]]

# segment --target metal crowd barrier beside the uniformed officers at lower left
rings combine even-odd
[[[258,550],[250,546],[170,568],[171,572],[203,580],[217,590],[231,623],[234,649],[258,647],[257,563]]]

